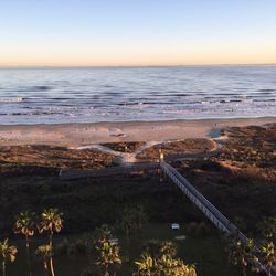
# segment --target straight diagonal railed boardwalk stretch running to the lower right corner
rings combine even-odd
[[[208,201],[177,169],[160,159],[161,171],[176,183],[180,190],[197,205],[205,216],[222,232],[227,235],[237,235],[243,244],[247,244],[247,237],[238,231],[210,201]],[[254,248],[255,253],[259,253],[257,247]],[[256,262],[261,270],[267,273],[266,267]],[[272,269],[270,275],[276,276],[276,270]]]

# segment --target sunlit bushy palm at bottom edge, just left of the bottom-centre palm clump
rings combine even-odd
[[[105,267],[105,276],[109,276],[110,265],[114,266],[114,276],[116,276],[117,267],[121,265],[119,247],[103,238],[96,246],[96,250],[99,253],[96,264]]]

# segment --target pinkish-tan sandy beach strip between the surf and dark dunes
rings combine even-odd
[[[100,142],[216,138],[227,127],[276,124],[276,117],[0,125],[0,146],[77,147]]]

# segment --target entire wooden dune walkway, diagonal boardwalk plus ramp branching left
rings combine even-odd
[[[60,178],[62,180],[75,180],[83,178],[110,177],[116,174],[127,174],[131,172],[139,172],[144,170],[160,169],[178,188],[192,201],[192,203],[200,209],[203,214],[223,233],[226,235],[235,235],[243,244],[247,244],[247,237],[238,231],[238,229],[231,223],[202,193],[200,193],[179,171],[167,163],[162,155],[159,162],[125,162],[123,166],[105,168],[103,170],[61,170]],[[259,255],[259,250],[254,248],[254,253]],[[262,262],[254,263],[258,268],[267,275],[276,276],[276,269],[272,269],[268,274],[266,267]]]

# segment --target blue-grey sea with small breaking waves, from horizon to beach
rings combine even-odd
[[[0,124],[258,116],[276,116],[276,65],[0,70]]]

